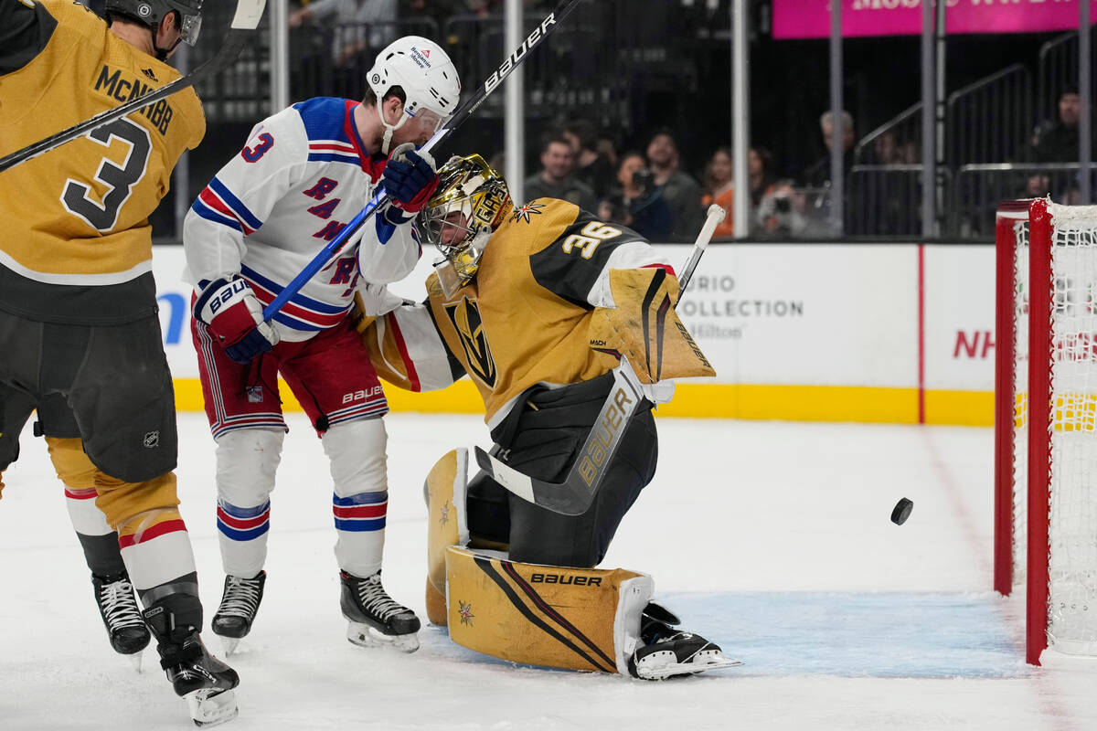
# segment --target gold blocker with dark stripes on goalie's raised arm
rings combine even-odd
[[[610,293],[614,307],[591,313],[592,349],[626,356],[644,384],[716,375],[675,312],[678,279],[661,269],[610,270]]]

